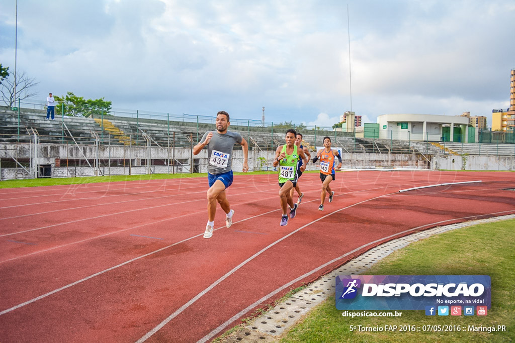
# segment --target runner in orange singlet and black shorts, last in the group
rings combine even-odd
[[[313,163],[315,163],[320,158],[320,179],[322,180],[322,192],[320,193],[320,206],[318,206],[319,211],[323,211],[323,203],[325,201],[325,194],[329,193],[329,202],[333,201],[334,192],[329,187],[329,184],[332,180],[334,180],[335,170],[334,170],[334,158],[338,158],[338,167],[336,169],[341,168],[341,156],[338,154],[338,150],[331,149],[331,138],[329,136],[323,137],[323,149],[320,149],[317,152],[315,158],[313,158]]]

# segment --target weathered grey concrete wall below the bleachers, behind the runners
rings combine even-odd
[[[33,159],[33,165],[50,165],[52,166],[52,177],[82,177],[82,176],[96,176],[96,175],[127,175],[129,174],[128,166],[109,167],[100,166],[99,170],[92,167],[70,167],[66,168],[63,164],[65,159],[84,159],[88,158],[93,165],[93,160],[97,156],[95,146],[74,146],[74,145],[54,145],[42,144],[39,151],[40,157],[36,160]],[[314,155],[314,152],[312,152]],[[108,159],[131,159],[130,173],[147,174],[148,167],[142,166],[142,160],[147,156],[151,159],[168,160],[173,158],[173,150],[163,149],[159,147],[126,147],[126,146],[100,146],[98,148],[98,158]],[[31,157],[30,145],[27,143],[0,143],[0,157],[10,159],[10,157],[28,159]],[[85,157],[84,157],[85,156]],[[176,172],[189,173],[190,172],[190,149],[176,148],[175,159],[185,160],[183,166],[178,166]],[[271,170],[272,161],[275,157],[274,151],[258,151],[252,150],[248,154],[248,165],[251,171],[253,170]],[[343,153],[342,154],[342,168],[374,168],[380,166],[396,166],[396,167],[415,167],[418,162],[414,160],[412,154],[373,154],[373,153]],[[59,167],[56,167],[56,159],[61,159]],[[12,160],[12,159],[11,159]],[[241,171],[243,169],[243,151],[233,151],[233,170]],[[198,155],[194,156],[194,164],[198,166],[201,172],[208,170],[208,151],[202,150]],[[30,170],[30,167],[27,167]],[[317,170],[318,164],[308,164],[307,170]],[[173,166],[150,166],[151,173],[170,173],[173,171]],[[29,178],[30,175],[23,168],[2,168],[0,179],[13,179],[13,178]]]

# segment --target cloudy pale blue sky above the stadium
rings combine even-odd
[[[347,21],[347,5],[350,21]],[[38,100],[332,125],[509,106],[515,1],[18,1],[18,69]],[[350,26],[350,76],[349,38]],[[14,69],[15,0],[0,2]]]

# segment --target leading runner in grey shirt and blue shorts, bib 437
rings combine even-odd
[[[234,210],[231,210],[225,190],[231,186],[233,180],[232,149],[235,143],[241,144],[243,147],[243,171],[249,170],[247,141],[239,133],[227,131],[230,124],[229,114],[225,111],[218,112],[216,114],[216,131],[206,132],[193,148],[193,154],[197,155],[205,146],[208,146],[208,225],[205,226],[204,238],[213,236],[216,202],[226,213],[226,227],[229,228],[232,225]]]

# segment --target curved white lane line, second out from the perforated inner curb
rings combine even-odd
[[[377,198],[381,198],[383,196],[385,196],[387,194],[384,194],[384,195],[380,195],[380,196],[376,196],[376,197],[373,197],[373,198],[370,198],[370,199],[367,199],[367,200],[364,200],[364,201],[361,201],[361,202],[358,202],[358,203],[355,203],[355,204],[352,204],[350,206],[347,206],[347,207],[343,207],[343,208],[340,208],[336,211],[333,211],[331,213],[328,213],[310,223],[307,223],[301,227],[299,227],[298,229],[294,230],[294,231],[291,231],[290,233],[286,234],[286,236],[283,236],[282,238],[278,239],[277,241],[273,242],[273,243],[270,243],[269,245],[267,245],[266,247],[264,247],[263,249],[261,249],[260,251],[256,252],[254,255],[252,255],[251,257],[249,257],[248,259],[246,259],[245,261],[243,261],[242,263],[238,264],[237,266],[235,266],[234,268],[232,268],[231,270],[229,270],[229,272],[227,272],[224,276],[220,277],[218,280],[216,280],[215,282],[213,282],[211,285],[209,285],[207,288],[205,288],[202,292],[200,292],[199,294],[197,294],[194,298],[192,298],[190,301],[186,302],[184,305],[182,305],[179,309],[177,309],[177,311],[175,311],[174,313],[172,313],[171,315],[169,315],[166,319],[164,319],[162,322],[160,322],[155,328],[153,328],[152,330],[150,330],[149,332],[147,332],[143,337],[141,337],[140,339],[138,339],[136,341],[136,343],[143,343],[144,341],[146,341],[148,338],[150,338],[153,334],[155,334],[156,332],[158,332],[159,330],[161,330],[161,328],[163,328],[168,322],[170,322],[172,319],[174,319],[175,317],[177,317],[178,315],[180,315],[184,310],[186,310],[187,308],[189,308],[192,304],[194,304],[198,299],[200,299],[201,297],[203,297],[206,293],[208,293],[209,291],[211,291],[216,285],[218,285],[220,282],[224,281],[225,279],[227,279],[228,277],[230,277],[232,274],[234,274],[238,269],[242,268],[243,266],[245,266],[247,263],[249,263],[250,261],[252,261],[253,259],[255,259],[256,257],[260,256],[261,254],[263,254],[263,252],[265,252],[266,250],[268,250],[269,248],[273,247],[274,245],[284,241],[286,238],[292,236],[293,234],[299,232],[300,230],[302,230],[303,228],[305,227],[308,227],[318,221],[321,221],[322,219],[325,219],[327,218],[328,216],[334,214],[334,213],[337,213],[339,211],[342,211],[342,210],[345,210],[345,209],[348,209],[348,208],[351,208],[351,207],[354,207],[356,205],[359,205],[359,204],[363,204],[363,203],[366,203],[368,201],[371,201],[371,200],[375,200]]]

